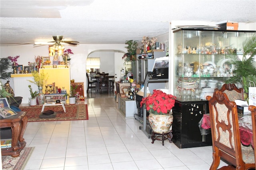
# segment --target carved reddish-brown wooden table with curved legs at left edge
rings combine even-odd
[[[26,146],[26,142],[23,138],[28,117],[26,112],[17,112],[18,115],[8,117],[0,120],[0,128],[11,127],[12,128],[12,148],[2,148],[2,155],[11,155],[12,157],[20,156],[20,151]]]

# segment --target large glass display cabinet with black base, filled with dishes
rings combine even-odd
[[[242,43],[254,32],[199,29],[174,30],[174,95],[172,141],[179,148],[212,145],[211,134],[198,126],[209,113],[207,95],[212,95],[233,76],[230,50],[242,57]]]

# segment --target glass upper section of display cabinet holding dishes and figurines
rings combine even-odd
[[[254,31],[199,29],[174,30],[174,95],[179,101],[205,100],[233,76],[226,57],[235,51],[242,57],[242,43]]]

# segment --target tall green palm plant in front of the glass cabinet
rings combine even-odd
[[[230,63],[234,66],[234,76],[230,77],[226,83],[242,83],[244,92],[248,93],[248,87],[250,81],[256,83],[256,34],[247,38],[243,42],[244,55],[242,59],[236,54],[235,51],[230,51],[231,55],[227,58],[230,59]]]

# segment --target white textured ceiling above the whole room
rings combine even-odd
[[[256,0],[0,0],[0,44],[124,43],[168,33],[169,22],[256,22]],[[163,22],[164,21],[164,22]]]

